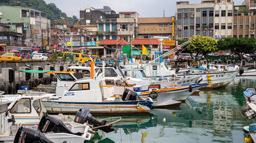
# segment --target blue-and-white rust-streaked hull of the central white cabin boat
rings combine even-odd
[[[79,108],[87,108],[93,114],[148,113],[153,107],[149,101],[128,102],[58,102],[43,101],[48,113],[76,113]]]

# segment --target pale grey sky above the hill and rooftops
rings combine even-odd
[[[109,6],[115,12],[136,11],[139,17],[162,17],[175,15],[176,0],[44,0],[46,3],[55,3],[56,6],[65,12],[67,16],[76,15],[85,7],[103,8]],[[187,0],[182,0],[187,1]],[[189,3],[200,3],[200,0],[188,0]],[[234,5],[241,5],[244,0],[234,0]]]

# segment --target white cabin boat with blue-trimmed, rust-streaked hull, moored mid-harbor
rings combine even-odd
[[[85,107],[92,113],[148,113],[153,107],[153,101],[149,97],[147,100],[137,98],[129,100],[124,96],[120,98],[119,95],[110,97],[120,91],[117,91],[117,88],[104,90],[102,87],[105,86],[105,80],[101,75],[95,79],[77,80],[58,99],[43,101],[46,111],[49,113],[75,113],[80,107]]]

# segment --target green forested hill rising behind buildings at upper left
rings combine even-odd
[[[76,16],[67,17],[66,13],[62,12],[59,8],[57,8],[54,3],[47,4],[44,0],[0,0],[0,5],[22,6],[26,8],[40,10],[49,15],[48,18],[51,19],[51,23],[53,23],[54,19],[60,19],[60,17],[65,17],[71,21],[77,19]]]

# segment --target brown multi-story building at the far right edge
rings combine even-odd
[[[255,37],[256,15],[246,8],[249,6],[234,6],[233,37]]]

